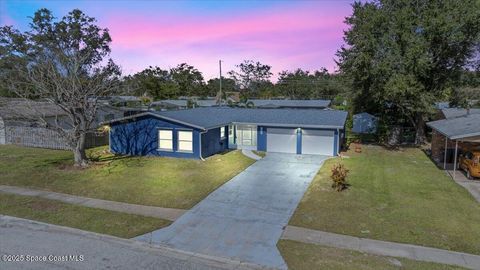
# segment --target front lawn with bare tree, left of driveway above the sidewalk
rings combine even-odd
[[[201,161],[119,157],[106,149],[90,150],[97,162],[82,170],[72,166],[69,151],[0,146],[0,185],[189,209],[254,162],[239,151]]]

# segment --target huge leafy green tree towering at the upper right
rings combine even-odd
[[[337,55],[353,79],[356,111],[406,119],[425,139],[432,105],[458,81],[478,48],[477,0],[356,2]]]

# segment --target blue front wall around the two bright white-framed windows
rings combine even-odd
[[[173,130],[173,151],[158,150],[158,130]],[[178,130],[193,131],[193,152],[177,152]],[[125,123],[114,123],[110,129],[110,149],[113,153],[132,156],[166,156],[200,158],[200,131],[191,127],[144,116]]]

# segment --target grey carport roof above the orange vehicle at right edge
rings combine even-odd
[[[480,135],[480,114],[469,114],[456,118],[428,122],[427,125],[450,139],[461,139]]]

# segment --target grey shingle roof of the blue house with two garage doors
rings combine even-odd
[[[105,124],[152,115],[188,126],[210,129],[230,123],[265,126],[343,129],[347,112],[337,110],[243,109],[227,107],[196,108],[179,111],[148,112],[116,119]]]

